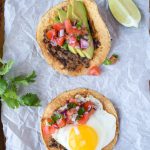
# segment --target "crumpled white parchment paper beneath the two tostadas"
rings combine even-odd
[[[148,0],[135,0],[142,13],[139,28],[119,25],[105,0],[97,0],[99,10],[112,37],[110,55],[120,60],[113,66],[102,66],[99,77],[67,77],[53,70],[43,59],[35,40],[36,26],[45,11],[59,1],[6,0],[4,60],[14,59],[9,76],[37,72],[37,80],[25,92],[37,93],[42,107],[2,107],[2,122],[7,150],[44,150],[39,123],[44,108],[57,94],[78,87],[97,90],[108,97],[118,110],[120,136],[116,150],[150,149],[150,41],[148,34]]]

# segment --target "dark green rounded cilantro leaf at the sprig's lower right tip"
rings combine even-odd
[[[35,106],[35,107],[41,106],[38,96],[32,93],[27,93],[23,95],[19,102],[21,105],[24,106]]]

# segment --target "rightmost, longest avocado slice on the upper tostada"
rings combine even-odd
[[[79,21],[82,21],[83,25],[85,27],[87,27],[87,29],[89,30],[89,35],[88,35],[89,47],[87,49],[85,49],[84,51],[82,51],[82,53],[84,53],[84,55],[87,58],[91,59],[93,57],[93,53],[94,53],[94,45],[93,45],[93,39],[92,39],[92,36],[90,33],[90,28],[89,28],[89,24],[88,24],[88,20],[87,20],[86,8],[85,8],[83,2],[73,0],[72,1],[72,9],[73,9],[72,10],[73,16],[76,19],[78,19]]]

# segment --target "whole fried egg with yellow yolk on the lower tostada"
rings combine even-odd
[[[78,100],[91,100],[97,106],[95,113],[84,125],[66,125],[52,136],[67,150],[101,150],[115,137],[116,118],[103,109],[102,104],[93,96]]]

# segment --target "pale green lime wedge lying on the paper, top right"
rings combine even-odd
[[[110,10],[116,20],[126,27],[138,27],[141,14],[132,0],[108,0]]]

